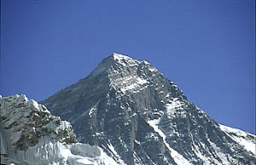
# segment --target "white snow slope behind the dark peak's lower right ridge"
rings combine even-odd
[[[256,135],[244,132],[241,129],[230,128],[222,124],[218,125],[219,128],[224,131],[225,134],[230,136],[231,139],[235,140],[236,143],[243,146],[247,151],[251,151],[254,155],[256,155]],[[253,136],[253,139],[247,139],[247,136]]]

